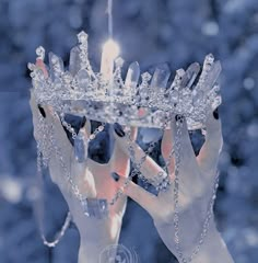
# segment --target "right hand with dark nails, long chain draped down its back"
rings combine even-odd
[[[216,165],[219,155],[222,148],[221,122],[218,112],[210,114],[207,121],[206,142],[202,146],[199,156],[196,158],[190,138],[188,135],[186,121],[181,123],[180,135],[180,165],[179,165],[179,245],[177,250],[174,227],[175,220],[175,159],[173,158],[168,167],[168,176],[173,182],[166,192],[160,192],[157,196],[146,192],[133,182],[125,188],[125,194],[139,203],[153,218],[156,230],[173,254],[177,256],[179,262],[185,262],[184,258],[189,258],[192,251],[200,242],[200,233],[203,229],[203,222],[207,218],[212,192],[216,178]],[[175,148],[176,122],[172,122],[171,129],[164,132],[162,140],[162,155],[165,159],[168,158],[172,148]],[[116,135],[115,135],[116,136]],[[126,138],[116,136],[119,147],[129,156]],[[132,144],[136,152],[136,159],[139,161],[144,152],[137,144]],[[141,168],[143,176],[150,182],[156,182],[154,176],[161,171],[161,168],[151,159],[146,158],[144,165]],[[164,172],[164,178],[167,174]],[[119,180],[122,185],[125,179]],[[192,262],[233,262],[231,255],[225,249],[225,245],[216,231],[213,216],[210,219],[210,227],[207,237],[203,239],[203,244],[200,252],[194,258]],[[201,241],[202,242],[202,241]],[[183,256],[180,255],[183,254]],[[214,258],[214,255],[216,255]],[[187,261],[188,262],[188,261]]]

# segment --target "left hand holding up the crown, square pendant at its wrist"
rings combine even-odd
[[[37,60],[37,67],[47,77],[45,65],[39,59]],[[84,197],[105,198],[109,203],[119,188],[112,174],[115,172],[124,178],[128,176],[130,165],[128,156],[115,145],[113,157],[107,164],[99,164],[90,159],[85,163],[79,163],[75,160],[73,147],[64,133],[58,115],[49,106],[38,107],[33,91],[31,93],[31,108],[35,139],[39,139],[37,130],[39,118],[44,119],[43,122],[47,125],[46,127],[49,128],[52,125],[52,137],[56,140],[60,156],[63,158],[62,160],[67,170],[71,172],[71,178],[74,184],[78,185],[79,192]],[[81,130],[85,139],[87,139],[91,130],[90,121],[86,121]],[[132,130],[134,136],[136,133],[136,129]],[[48,133],[47,136],[46,140],[51,142],[50,134]],[[85,150],[87,151],[87,149]],[[49,171],[52,182],[59,186],[68,203],[72,218],[81,236],[79,262],[98,262],[102,250],[109,244],[118,242],[127,198],[121,196],[113,206],[109,206],[107,218],[96,219],[85,216],[81,203],[72,193],[71,185],[60,164],[60,156],[55,151],[50,152]]]

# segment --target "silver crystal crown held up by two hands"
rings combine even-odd
[[[157,66],[153,75],[140,75],[139,64],[132,62],[122,78],[124,60],[118,57],[107,79],[91,67],[87,34],[81,32],[78,39],[79,44],[70,52],[68,69],[52,53],[47,75],[40,67],[28,64],[37,103],[62,114],[156,128],[166,126],[173,114],[180,114],[189,129],[202,127],[208,113],[221,104],[218,84],[221,64],[211,54],[206,56],[202,69],[194,62],[186,70],[178,69],[173,81],[168,81],[171,71],[166,64]],[[36,54],[44,61],[45,49],[38,47]]]

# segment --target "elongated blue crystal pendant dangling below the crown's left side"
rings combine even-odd
[[[87,158],[87,141],[82,130],[79,132],[74,139],[74,156],[79,163],[85,162]]]

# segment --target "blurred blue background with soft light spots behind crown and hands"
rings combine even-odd
[[[77,262],[79,235],[69,228],[55,250],[42,244],[33,214],[36,148],[26,64],[39,45],[68,61],[77,33],[90,34],[99,67],[107,38],[106,0],[0,0],[0,262]],[[114,37],[126,61],[171,69],[203,60],[223,66],[224,148],[215,205],[218,226],[236,263],[258,262],[258,2],[257,0],[114,0]],[[48,176],[45,226],[60,228],[67,206]],[[139,230],[140,229],[140,230]],[[129,202],[120,242],[141,262],[175,262],[150,217]]]

